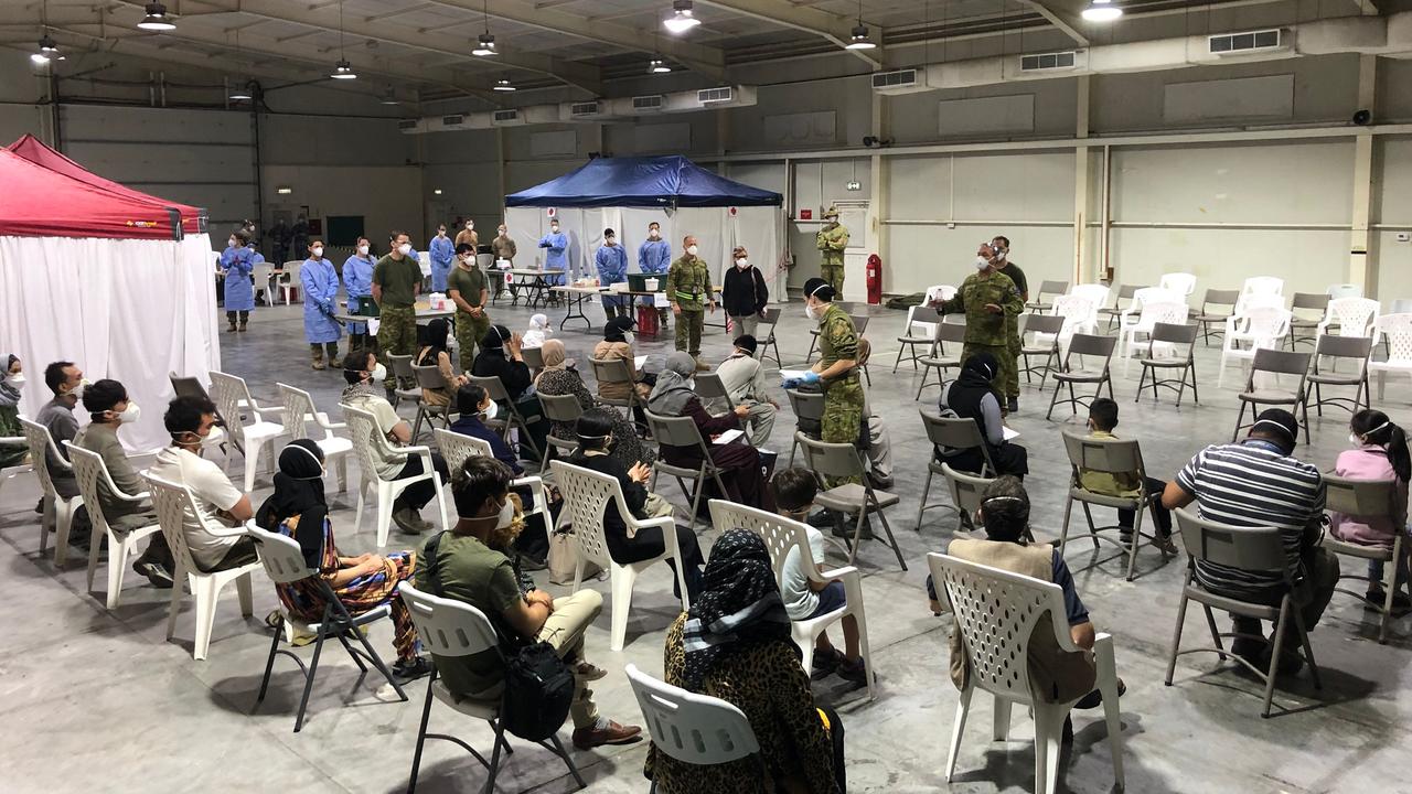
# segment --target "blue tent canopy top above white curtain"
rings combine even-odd
[[[681,155],[600,157],[558,179],[510,194],[505,206],[779,206],[784,198],[734,182]]]

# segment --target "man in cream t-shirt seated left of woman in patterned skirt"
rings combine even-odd
[[[206,523],[227,527],[212,533],[195,516],[184,516],[192,561],[206,574],[254,562],[256,541],[244,534],[244,523],[254,517],[250,496],[240,493],[220,466],[201,456],[201,445],[216,427],[216,404],[202,397],[178,397],[167,405],[162,422],[172,445],[157,454],[147,473],[186,486]]]

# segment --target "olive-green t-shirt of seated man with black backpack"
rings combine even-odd
[[[470,535],[441,534],[436,559],[441,592],[438,593],[436,588],[432,586],[426,572],[425,544],[417,552],[417,571],[414,574],[417,589],[466,602],[484,612],[491,624],[503,623],[500,617],[504,616],[505,610],[522,599],[510,558]],[[498,694],[498,687],[504,680],[504,668],[494,650],[450,658],[433,654],[432,658],[442,682],[452,692],[476,697],[496,689]]]

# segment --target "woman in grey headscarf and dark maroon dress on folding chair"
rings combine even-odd
[[[764,465],[760,451],[741,439],[730,444],[712,444],[712,439],[729,429],[740,429],[741,420],[750,414],[750,405],[736,405],[724,415],[713,417],[706,413],[700,397],[692,391],[692,376],[696,374],[696,359],[685,350],[676,350],[666,357],[666,367],[657,376],[657,386],[647,400],[647,410],[662,417],[690,417],[696,422],[696,429],[710,449],[710,459],[722,470],[720,479],[726,485],[726,499],[774,511],[774,500],[770,489],[765,487]],[[699,446],[671,446],[662,444],[658,455],[674,466],[695,469],[702,465],[702,451]],[[703,487],[706,493],[713,492],[713,485],[707,480]],[[702,500],[705,504],[705,500]]]

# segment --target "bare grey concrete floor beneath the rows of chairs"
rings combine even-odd
[[[323,410],[335,410],[342,390],[336,372],[311,372],[301,335],[299,307],[261,308],[251,331],[222,333],[227,372],[244,376],[257,397],[271,398],[274,383],[302,384]],[[590,309],[593,312],[596,309]],[[530,311],[498,307],[498,322],[513,329],[528,325]],[[918,534],[912,528],[916,500],[926,472],[929,448],[922,441],[912,401],[918,377],[911,369],[888,373],[902,325],[901,312],[875,309],[870,338],[877,345],[873,400],[885,417],[895,449],[895,492],[902,502],[891,510],[894,531],[904,545],[909,571],[899,571],[881,544],[864,545],[868,629],[878,672],[878,699],[867,702],[832,678],[815,684],[820,701],[834,704],[846,719],[849,780],[853,791],[1031,791],[1032,728],[1015,712],[1012,742],[988,740],[990,702],[977,697],[967,728],[956,780],[943,780],[946,743],[956,708],[956,691],[946,677],[949,617],[926,609],[922,592],[923,555],[945,548],[955,514],[928,511]],[[562,309],[549,315],[555,325]],[[806,319],[798,302],[786,307],[779,340],[785,362],[801,362],[808,346]],[[582,324],[576,324],[582,326]],[[599,339],[576,328],[561,335],[570,356],[587,357]],[[724,356],[720,329],[709,329],[706,353]],[[661,366],[665,340],[641,340],[640,352]],[[1216,389],[1216,348],[1199,350],[1203,383],[1200,407],[1176,408],[1168,397],[1132,404],[1132,377],[1117,379],[1123,408],[1118,432],[1138,437],[1151,473],[1169,478],[1202,445],[1230,438],[1236,387],[1227,377]],[[1236,376],[1236,373],[1231,373]],[[1396,383],[1385,408],[1408,418],[1405,384]],[[936,400],[936,389],[923,398]],[[1027,389],[1011,425],[1029,448],[1034,500],[1032,521],[1041,538],[1058,535],[1069,465],[1059,439],[1062,428],[1082,428],[1082,420],[1043,420],[1048,391]],[[785,403],[784,397],[779,398]],[[148,405],[147,410],[160,410]],[[1065,417],[1058,417],[1063,420]],[[1334,411],[1313,422],[1313,445],[1299,455],[1330,468],[1346,445],[1347,414]],[[784,418],[774,446],[788,445]],[[239,465],[239,461],[237,461]],[[330,487],[335,487],[330,485]],[[674,489],[664,489],[669,497]],[[412,745],[425,684],[409,687],[412,702],[388,702],[385,692],[356,688],[356,668],[336,648],[323,657],[302,733],[292,733],[301,678],[289,660],[275,664],[270,695],[251,715],[268,633],[263,617],[275,606],[270,583],[257,575],[256,617],[243,620],[233,592],[226,592],[216,622],[210,658],[192,661],[192,608],[184,608],[175,639],[164,640],[167,592],[128,576],[123,605],[107,612],[102,592],[83,592],[82,562],[56,571],[38,557],[37,516],[31,511],[38,486],[31,476],[7,480],[0,490],[0,550],[10,575],[0,578],[0,616],[7,641],[0,650],[0,715],[7,740],[0,742],[0,790],[4,791],[401,791],[407,784]],[[270,493],[261,478],[258,504]],[[932,500],[945,500],[933,489]],[[429,514],[428,514],[429,516]],[[340,548],[347,554],[373,551],[373,533],[353,534],[352,503],[337,497],[333,511]],[[714,533],[709,534],[712,538]],[[710,538],[707,538],[710,540]],[[412,548],[418,538],[394,531],[390,548]],[[707,543],[703,543],[706,547]],[[1324,671],[1324,689],[1313,689],[1308,672],[1276,692],[1276,705],[1289,713],[1268,721],[1258,715],[1260,687],[1247,675],[1217,670],[1211,654],[1182,657],[1175,685],[1162,685],[1166,650],[1176,616],[1183,559],[1165,565],[1144,548],[1139,578],[1125,582],[1121,564],[1104,555],[1094,561],[1080,543],[1067,552],[1080,593],[1099,630],[1113,633],[1118,672],[1128,691],[1123,698],[1124,763],[1130,791],[1412,791],[1405,747],[1412,743],[1408,718],[1412,697],[1406,687],[1406,658],[1412,620],[1395,622],[1388,644],[1374,641],[1371,613],[1347,596],[1336,596],[1324,622],[1313,633],[1315,653]],[[1346,565],[1353,572],[1353,564]],[[638,583],[623,653],[607,650],[607,615],[589,632],[589,658],[611,670],[594,685],[603,713],[621,722],[641,722],[621,668],[637,663],[661,671],[662,636],[676,606],[665,567]],[[539,576],[545,582],[544,575]],[[99,582],[102,582],[102,575]],[[102,585],[99,585],[102,586]],[[607,591],[606,583],[590,586]],[[1360,589],[1360,583],[1354,583]],[[546,585],[551,592],[562,588]],[[607,606],[607,605],[606,605]],[[1221,619],[1224,624],[1224,617]],[[1189,616],[1187,640],[1199,640],[1203,622]],[[373,643],[391,657],[388,624],[373,629]],[[304,650],[305,658],[309,651]],[[489,730],[446,709],[435,708],[433,730],[463,736],[489,749]],[[1073,750],[1066,753],[1060,790],[1108,791],[1113,769],[1101,709],[1076,712]],[[566,737],[566,735],[565,735]],[[546,752],[515,745],[500,776],[501,791],[572,790],[563,767]],[[1404,747],[1404,750],[1396,750]],[[647,745],[575,753],[594,791],[645,791],[641,777]],[[1398,760],[1401,759],[1401,760]],[[460,749],[432,743],[422,764],[421,791],[473,791],[483,770]]]

